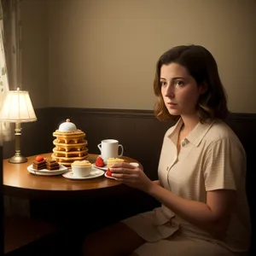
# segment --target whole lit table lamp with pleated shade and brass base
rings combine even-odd
[[[20,154],[20,123],[36,120],[37,116],[28,91],[20,90],[20,88],[9,90],[0,111],[0,121],[15,123],[15,155],[9,159],[9,163],[20,164],[27,161],[26,157]]]

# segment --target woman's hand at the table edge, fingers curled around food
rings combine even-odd
[[[153,182],[147,177],[141,168],[132,166],[129,163],[121,163],[113,165],[110,168],[112,177],[115,177],[121,183],[148,192]]]

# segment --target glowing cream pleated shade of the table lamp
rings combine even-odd
[[[28,91],[18,88],[7,92],[0,111],[0,120],[20,123],[37,120]]]

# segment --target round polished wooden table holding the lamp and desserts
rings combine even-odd
[[[40,154],[50,158],[48,154]],[[89,154],[87,160],[91,163],[96,161],[97,154]],[[3,193],[26,199],[38,198],[76,198],[75,196],[96,196],[111,195],[121,193],[127,186],[108,177],[96,177],[85,180],[71,180],[66,177],[58,176],[39,176],[27,171],[27,166],[32,165],[35,155],[27,158],[26,163],[11,164],[8,160],[3,160]],[[129,157],[123,157],[125,161],[137,162]],[[140,163],[139,163],[140,164]],[[141,166],[141,165],[140,165]],[[103,192],[103,193],[102,193]],[[105,193],[106,192],[106,193]]]

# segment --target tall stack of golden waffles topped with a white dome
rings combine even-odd
[[[61,165],[70,167],[75,160],[85,160],[88,157],[85,133],[77,129],[70,119],[62,123],[53,136],[56,138],[53,141],[55,148],[51,157]]]

